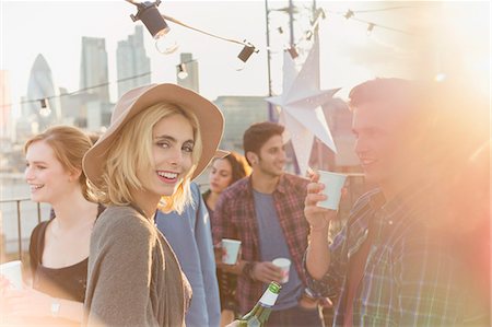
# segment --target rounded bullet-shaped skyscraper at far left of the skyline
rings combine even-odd
[[[60,121],[61,108],[58,87],[55,87],[51,69],[42,54],[37,55],[31,69],[27,84],[26,103],[21,108],[24,119],[28,124],[37,125],[38,130],[44,130],[50,125]],[[45,100],[46,108],[43,109],[42,100]]]

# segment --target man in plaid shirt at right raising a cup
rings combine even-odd
[[[330,186],[317,183],[317,174],[308,185],[305,268],[314,291],[338,295],[335,326],[464,326],[464,275],[446,233],[432,225],[440,213],[422,149],[435,120],[421,103],[424,94],[399,79],[351,91],[355,152],[378,189],[355,203],[331,245],[327,234],[336,212],[316,206]]]

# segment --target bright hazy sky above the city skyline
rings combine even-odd
[[[270,8],[286,7],[289,1],[269,1]],[[312,1],[294,1],[308,8]],[[415,69],[433,77],[441,70],[450,73],[466,70],[478,90],[489,91],[490,77],[490,4],[482,2],[332,2],[316,1],[327,9],[328,17],[320,24],[321,87],[342,86],[345,96],[351,86],[374,77],[415,75]],[[79,89],[81,37],[106,38],[109,81],[116,77],[117,42],[133,33],[130,14],[134,5],[124,1],[9,1],[1,0],[1,69],[10,71],[12,102],[27,90],[28,74],[38,54],[51,68],[55,83],[69,91]],[[358,13],[391,7],[411,7],[379,12]],[[242,46],[216,40],[169,23],[179,49],[173,55],[159,54],[151,35],[144,30],[148,56],[151,58],[153,82],[175,82],[179,52],[192,52],[200,65],[200,91],[213,100],[218,95],[267,95],[265,1],[186,1],[164,0],[161,13],[191,26],[224,37],[247,39],[260,51],[243,71],[235,70]],[[355,11],[356,19],[375,22],[407,32],[409,36],[375,27],[366,35],[367,24],[347,21],[332,12]],[[303,9],[307,13],[307,9]],[[288,43],[286,14],[271,12],[271,43]],[[307,19],[304,19],[304,23]],[[302,20],[301,20],[302,21]],[[141,24],[141,22],[138,22]],[[305,30],[298,23],[296,38]],[[426,54],[425,60],[415,60]],[[436,55],[437,54],[437,55]],[[281,92],[281,55],[273,54],[273,91]],[[459,65],[456,65],[456,62]],[[302,62],[300,62],[302,63]],[[423,65],[423,66],[422,66]],[[458,67],[458,68],[457,68]],[[449,70],[449,71],[446,71]],[[112,98],[116,100],[113,83]]]

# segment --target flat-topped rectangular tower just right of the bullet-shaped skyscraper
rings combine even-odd
[[[87,90],[86,94],[96,94],[102,103],[109,102],[109,85],[106,42],[99,37],[82,36],[82,55],[80,63],[80,89]]]

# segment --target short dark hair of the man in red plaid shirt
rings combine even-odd
[[[244,154],[246,155],[249,151],[259,154],[261,147],[270,140],[271,137],[282,136],[283,130],[284,127],[276,122],[263,121],[253,124],[243,136]]]

